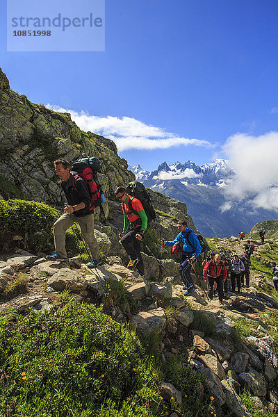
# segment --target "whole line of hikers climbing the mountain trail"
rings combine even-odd
[[[92,161],[99,163],[99,161]],[[94,208],[101,202],[101,186],[97,182],[97,175],[90,167],[90,161],[81,159],[74,163],[72,169],[68,161],[63,158],[54,162],[56,174],[60,178],[61,188],[65,193],[67,203],[64,213],[54,223],[54,245],[55,253],[48,255],[49,261],[63,261],[67,259],[65,249],[65,232],[77,222],[81,228],[83,240],[88,245],[92,260],[89,268],[97,268],[101,263],[99,245],[94,232]],[[126,254],[129,255],[128,268],[136,268],[140,275],[144,276],[144,264],[140,252],[140,242],[147,231],[148,216],[140,199],[129,194],[129,188],[119,186],[115,190],[115,197],[122,206],[124,217],[123,228],[118,238],[124,247]],[[145,192],[146,193],[146,192]],[[147,193],[146,193],[147,194]],[[149,197],[148,197],[149,198]],[[153,208],[152,208],[153,210]],[[154,212],[154,210],[153,210]],[[155,216],[155,213],[154,213]],[[172,252],[180,250],[182,254],[179,274],[183,281],[184,295],[194,293],[195,287],[191,277],[193,263],[199,254],[204,250],[204,239],[197,236],[188,227],[186,220],[177,222],[179,233],[174,240],[161,238],[161,248],[165,245],[172,247]],[[240,240],[245,236],[243,232],[239,234]],[[261,241],[264,242],[265,231],[259,234]],[[228,259],[224,254],[214,253],[203,262],[203,277],[208,284],[208,297],[212,300],[215,291],[218,290],[220,303],[224,298],[224,293],[229,291],[229,275],[231,279],[231,291],[240,292],[240,288],[250,285],[250,256],[254,252],[254,245],[247,240],[244,247],[245,252],[240,256],[234,255]],[[207,252],[207,248],[206,248]],[[161,252],[162,253],[162,252]],[[276,268],[276,269],[275,269]],[[278,291],[278,265],[272,265],[274,274],[275,289]],[[245,281],[245,283],[244,283]]]

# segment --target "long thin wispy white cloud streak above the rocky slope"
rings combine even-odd
[[[58,106],[51,106],[51,104],[47,104],[47,108],[60,113],[70,113],[72,120],[82,130],[92,131],[113,140],[120,152],[128,149],[167,149],[180,145],[215,146],[206,140],[180,137],[161,127],[150,126],[132,117],[98,117],[84,111],[78,113]]]

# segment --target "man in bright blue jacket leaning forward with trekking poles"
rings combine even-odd
[[[188,295],[195,291],[190,271],[191,265],[201,253],[202,247],[199,243],[199,239],[195,233],[193,233],[193,230],[187,227],[186,220],[179,220],[177,228],[179,229],[179,234],[176,238],[174,238],[174,240],[161,239],[161,245],[179,245],[181,247],[183,259],[181,261],[181,266],[179,267],[179,273],[181,274],[181,280],[184,283],[183,290],[186,290],[184,295]]]

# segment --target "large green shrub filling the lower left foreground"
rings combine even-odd
[[[95,306],[66,301],[0,317],[0,415],[165,415],[154,361],[136,336]]]

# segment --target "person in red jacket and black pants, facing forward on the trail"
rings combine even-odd
[[[213,261],[206,263],[203,269],[203,275],[206,282],[208,282],[208,297],[213,299],[213,286],[216,283],[218,289],[218,297],[220,303],[222,303],[223,283],[227,279],[227,270],[224,261],[221,260],[220,254],[215,254]]]

